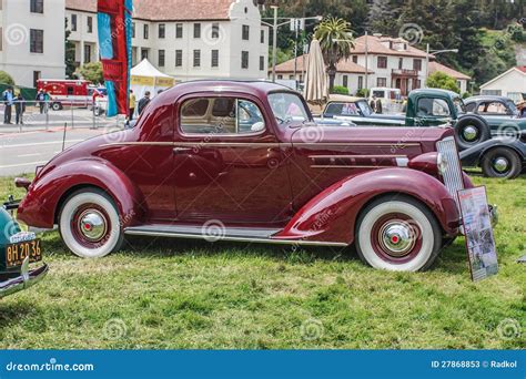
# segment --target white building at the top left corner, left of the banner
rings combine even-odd
[[[63,79],[64,0],[0,0],[0,70],[18,85]]]

